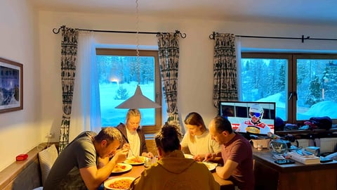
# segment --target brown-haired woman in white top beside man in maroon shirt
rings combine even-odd
[[[202,161],[206,153],[220,152],[220,145],[211,139],[209,129],[199,113],[189,113],[184,120],[187,132],[180,142],[182,151],[190,153],[194,160]],[[216,160],[211,160],[216,161]]]

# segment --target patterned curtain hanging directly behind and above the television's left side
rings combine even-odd
[[[213,104],[237,100],[237,58],[234,34],[214,34]]]

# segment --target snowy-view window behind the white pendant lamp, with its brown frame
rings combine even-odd
[[[96,53],[103,127],[125,123],[128,109],[115,107],[133,96],[138,82],[143,95],[161,105],[158,51],[140,50],[139,70],[136,50],[96,49]],[[161,108],[140,109],[140,113],[144,132],[157,132],[161,126]]]

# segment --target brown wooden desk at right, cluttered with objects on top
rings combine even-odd
[[[253,148],[254,175],[258,190],[337,189],[337,161],[315,165],[278,165],[267,149]]]

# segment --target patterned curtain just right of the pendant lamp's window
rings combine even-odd
[[[179,35],[176,33],[159,33],[159,64],[163,84],[164,98],[167,103],[167,121],[180,127],[177,94],[179,65]]]

